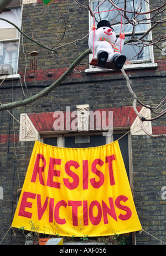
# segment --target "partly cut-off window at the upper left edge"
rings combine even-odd
[[[0,18],[7,19],[20,27],[20,8],[5,9],[0,13]],[[19,32],[5,21],[0,20],[0,64],[9,64],[13,68],[13,74],[17,74]]]

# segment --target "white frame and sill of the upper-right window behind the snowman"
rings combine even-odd
[[[92,10],[92,2],[98,2],[98,0],[90,0],[90,8]],[[146,6],[146,12],[149,11],[149,4],[147,2],[145,2],[145,6]],[[147,18],[151,18],[150,14],[147,14]],[[91,17],[90,13],[89,13],[89,31],[91,31],[92,28],[92,24],[94,23],[93,18]],[[149,29],[151,27],[151,24],[147,24],[147,29]],[[143,31],[142,33],[144,33],[146,31]],[[131,33],[125,33],[125,35],[130,35]],[[136,32],[135,33],[140,34],[140,32]],[[118,36],[119,34],[116,33],[116,36]],[[150,39],[152,39],[152,32],[149,32],[148,37]],[[157,68],[157,63],[154,63],[154,53],[153,53],[153,45],[149,45],[149,57],[150,57],[150,62],[147,63],[147,60],[131,60],[132,64],[128,64],[128,65],[124,65],[124,69],[125,70],[130,70],[130,69],[144,69],[144,68]],[[89,55],[89,62],[91,62],[92,59],[92,54]],[[96,66],[91,66],[89,65],[89,69],[85,70],[85,73],[94,73],[94,72],[106,72],[106,71],[115,71],[112,69],[99,69]]]

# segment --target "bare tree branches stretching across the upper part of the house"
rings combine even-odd
[[[146,0],[144,0],[145,2],[147,2]],[[0,12],[2,11],[2,9],[4,9],[9,3],[11,3],[12,0],[0,0]],[[87,6],[83,6],[79,0],[75,0],[75,2],[77,4],[79,4],[82,8],[85,8],[87,9],[87,11],[90,12],[91,16],[95,18],[95,15],[94,13],[92,12],[92,10],[90,9],[90,3],[87,4]],[[97,7],[95,9],[95,12],[96,10],[102,6],[103,3],[105,3],[106,0],[102,0],[101,2],[98,1],[98,4],[97,4]],[[158,43],[159,42],[162,42],[165,40],[166,38],[166,34],[161,34],[161,33],[158,33],[157,35],[155,35],[154,38],[152,39],[146,39],[147,35],[149,33],[151,33],[153,31],[154,28],[157,27],[158,24],[161,24],[161,23],[164,23],[166,21],[165,18],[163,19],[160,19],[160,16],[162,13],[165,13],[165,5],[166,5],[166,2],[163,3],[162,5],[160,5],[159,7],[156,7],[152,4],[150,4],[149,2],[147,2],[148,4],[150,4],[153,9],[147,11],[147,12],[142,12],[142,0],[139,0],[139,3],[138,3],[138,6],[137,6],[137,9],[135,8],[134,6],[134,0],[132,1],[133,2],[133,10],[132,11],[128,11],[127,10],[127,0],[124,1],[124,8],[118,8],[118,6],[115,4],[115,1],[112,1],[112,0],[108,0],[108,2],[110,2],[112,4],[113,7],[117,8],[117,9],[121,9],[121,11],[123,12],[123,18],[124,18],[124,22],[123,22],[123,25],[125,24],[131,24],[133,26],[132,28],[132,35],[131,35],[131,39],[129,39],[127,42],[125,42],[126,44],[128,45],[132,45],[132,46],[137,46],[137,47],[141,47],[141,50],[139,50],[139,53],[142,51],[142,49],[144,47],[148,47],[149,45],[155,45],[158,49],[162,50],[162,48],[159,47]],[[127,16],[127,14],[133,14],[132,15],[132,18],[129,18],[129,16]],[[145,14],[152,14],[152,17],[147,17]],[[60,13],[61,17],[64,19],[64,17],[62,16],[62,14]],[[144,15],[144,16],[143,16]],[[140,17],[141,16],[141,17]],[[143,17],[142,17],[143,16]],[[65,45],[69,45],[69,44],[72,44],[76,41],[79,41],[79,40],[82,40],[84,39],[85,37],[87,37],[87,35],[85,35],[85,37],[82,37],[81,39],[76,39],[75,41],[73,42],[70,42],[70,43],[67,43],[67,44],[64,44],[64,45],[60,45],[59,47],[56,47],[64,38],[65,36],[65,32],[66,32],[66,22],[65,22],[65,19],[64,19],[64,23],[65,23],[65,30],[64,30],[64,34],[63,36],[61,37],[60,41],[58,43],[56,43],[53,47],[48,47],[47,45],[45,45],[43,42],[41,41],[38,41],[38,40],[35,40],[34,38],[31,38],[29,37],[27,34],[25,34],[21,29],[19,29],[17,27],[17,25],[15,25],[14,23],[12,22],[9,22],[7,21],[6,19],[3,19],[3,18],[0,18],[2,21],[6,21],[10,24],[12,24],[15,28],[18,29],[18,31],[24,35],[25,37],[27,37],[29,40],[31,40],[32,42],[34,42],[35,44],[38,44],[40,45],[40,47],[43,47],[47,50],[51,50],[51,52],[54,52],[54,53],[57,53],[56,50],[61,48],[61,47],[64,47]],[[96,18],[95,18],[96,20]],[[114,22],[112,21],[112,25],[115,25],[115,24],[118,24],[120,22]],[[141,35],[139,38],[134,38],[134,35],[135,35],[135,31],[136,31],[136,26],[137,25],[140,25],[140,24],[151,24],[151,27],[143,34]],[[56,48],[55,48],[56,47]],[[55,48],[55,49],[54,49]],[[33,103],[34,101],[44,97],[44,96],[47,96],[52,90],[54,90],[57,86],[59,86],[67,77],[68,75],[73,71],[75,70],[75,67],[76,65],[78,65],[81,60],[83,60],[87,55],[89,55],[91,53],[91,50],[90,49],[87,49],[84,53],[82,53],[71,65],[70,63],[65,59],[66,62],[68,62],[68,64],[70,65],[68,70],[65,71],[65,73],[63,75],[60,76],[60,78],[56,81],[54,81],[53,84],[51,84],[50,86],[48,86],[47,88],[43,89],[42,91],[40,91],[39,93],[27,98],[27,99],[24,99],[24,100],[18,100],[18,101],[15,101],[15,102],[12,102],[12,103],[7,103],[7,104],[1,104],[0,103],[0,111],[2,110],[8,110],[8,109],[13,109],[14,107],[18,107],[18,106],[23,106],[23,105],[27,105],[27,104],[30,104],[30,103]],[[137,53],[137,55],[139,54]],[[131,81],[130,79],[128,78],[127,74],[125,73],[125,70],[124,68],[122,68],[122,74],[124,76],[124,78],[126,79],[126,84],[127,84],[127,88],[129,90],[129,93],[132,95],[133,97],[133,109],[134,111],[136,112],[137,116],[139,117],[140,121],[141,121],[141,126],[142,126],[142,129],[144,130],[144,132],[146,132],[147,135],[150,135],[152,137],[161,137],[161,136],[166,136],[166,135],[152,135],[152,134],[149,134],[149,132],[145,129],[144,127],[144,121],[154,121],[154,120],[157,120],[159,119],[160,117],[164,116],[166,114],[166,109],[163,109],[162,111],[155,111],[155,110],[159,110],[160,107],[163,106],[163,103],[164,101],[166,100],[166,97],[158,104],[158,106],[156,107],[151,107],[151,106],[148,106],[146,104],[143,104],[138,98],[137,98],[137,95],[134,93],[134,91],[132,90],[132,87],[131,87]],[[142,114],[140,114],[137,110],[137,103],[144,106],[144,107],[147,107],[148,109],[150,109],[152,111],[152,113],[156,116],[152,117],[152,118],[145,118]]]

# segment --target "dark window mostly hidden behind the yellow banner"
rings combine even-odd
[[[129,150],[129,135],[126,134],[122,137],[124,133],[117,132],[116,134],[113,134],[111,138],[109,138],[111,141],[119,140],[119,145],[123,157],[123,161],[125,163],[127,176],[129,179],[129,159],[131,157],[131,152]],[[102,136],[101,132],[89,132],[87,134],[63,134],[63,135],[41,135],[41,141],[45,144],[51,145],[51,146],[60,146],[63,145],[64,147],[71,147],[71,148],[81,148],[81,147],[95,147],[95,146],[102,146],[110,141],[108,141],[108,138],[106,136]],[[62,143],[63,141],[63,143]],[[126,244],[132,244],[133,234],[127,233],[127,234],[121,234],[120,237],[125,237],[125,243]],[[94,238],[94,242],[97,238]],[[77,239],[79,240],[79,239]],[[75,242],[77,242],[75,240]]]

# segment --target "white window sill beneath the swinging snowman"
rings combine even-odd
[[[157,68],[157,63],[140,63],[140,64],[129,64],[125,65],[125,70],[133,70],[133,69],[152,69]],[[85,73],[96,73],[96,72],[108,72],[108,71],[116,71],[113,69],[99,69],[99,68],[89,68],[85,69]]]

